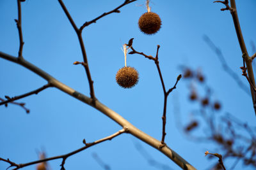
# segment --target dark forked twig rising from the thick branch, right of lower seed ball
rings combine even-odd
[[[147,59],[150,59],[150,60],[154,60],[155,64],[156,64],[156,67],[157,67],[157,71],[158,71],[158,74],[159,74],[159,77],[160,77],[160,80],[161,80],[161,84],[162,84],[162,87],[163,87],[163,92],[164,92],[164,108],[163,108],[163,116],[162,116],[162,120],[163,120],[163,131],[162,131],[162,139],[161,139],[161,143],[162,143],[162,146],[163,147],[165,145],[164,143],[164,138],[166,136],[166,131],[165,131],[165,127],[166,127],[166,107],[167,107],[167,98],[168,98],[168,95],[170,94],[170,92],[172,92],[173,89],[176,89],[176,85],[178,83],[178,81],[180,80],[181,78],[181,74],[179,74],[179,76],[177,77],[177,81],[175,83],[175,85],[168,90],[168,92],[166,92],[166,89],[165,89],[165,85],[164,85],[164,80],[163,80],[163,76],[162,76],[162,73],[161,73],[161,69],[160,69],[160,66],[159,66],[159,60],[158,60],[158,52],[159,52],[159,48],[160,48],[160,45],[157,45],[157,51],[156,51],[156,57],[152,57],[152,55],[146,55],[145,53],[143,52],[137,52],[133,47],[132,47],[132,40],[134,38],[131,38],[129,40],[129,43],[126,44],[127,46],[130,46],[131,47],[131,50],[132,52],[129,52],[129,54],[134,54],[134,53],[138,53],[140,55],[143,55],[144,57],[146,57]]]

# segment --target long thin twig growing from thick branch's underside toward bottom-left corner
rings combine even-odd
[[[97,145],[97,144],[102,143],[104,141],[111,140],[111,139],[115,138],[116,136],[119,136],[120,134],[122,134],[124,132],[126,132],[126,130],[121,129],[120,131],[115,132],[115,134],[111,134],[110,136],[107,136],[106,138],[99,139],[97,141],[94,141],[93,143],[85,143],[85,146],[83,146],[82,148],[74,150],[73,152],[67,153],[65,155],[60,155],[60,156],[56,156],[56,157],[49,157],[49,158],[46,158],[46,159],[40,159],[40,160],[36,160],[36,161],[33,161],[33,162],[28,162],[26,164],[15,164],[14,162],[11,162],[9,159],[5,160],[5,159],[0,158],[0,160],[3,160],[4,162],[8,162],[11,166],[15,166],[15,169],[13,169],[13,170],[16,170],[16,169],[20,169],[22,167],[31,166],[33,164],[38,164],[38,163],[46,162],[46,161],[49,161],[49,160],[63,159],[63,161],[61,162],[61,169],[63,170],[63,169],[65,169],[65,167],[64,167],[65,160],[68,157],[70,157],[70,156],[72,156],[72,155],[74,155],[78,152],[81,152],[83,150],[86,150],[87,148],[90,148],[93,145]]]

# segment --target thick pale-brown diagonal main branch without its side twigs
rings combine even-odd
[[[84,94],[81,94],[80,92],[77,92],[74,89],[71,89],[67,85],[61,83],[60,81],[56,80],[54,77],[52,77],[50,74],[46,73],[42,69],[34,66],[30,62],[28,62],[25,59],[17,59],[17,57],[13,57],[12,55],[8,55],[7,53],[0,52],[0,57],[6,60],[10,60],[12,62],[15,62],[17,64],[20,64],[21,66],[26,67],[30,71],[33,71],[34,73],[38,74],[38,76],[41,76],[48,82],[51,82],[51,85],[53,87],[56,87],[57,89],[67,93],[68,95],[75,97],[79,101],[82,101],[83,103],[86,103],[93,108],[99,110],[100,112],[104,113],[107,117],[114,120],[117,124],[121,125],[122,127],[126,127],[128,129],[128,132],[132,134],[132,136],[135,136],[136,138],[140,139],[141,141],[144,141],[148,145],[156,148],[160,152],[164,153],[168,158],[173,160],[175,164],[180,166],[182,169],[195,169],[195,167],[191,166],[186,160],[184,160],[180,155],[176,152],[174,152],[171,148],[169,148],[167,145],[163,146],[163,143],[161,141],[158,141],[155,138],[152,138],[148,134],[145,134],[144,132],[140,131],[140,129],[134,127],[130,122],[125,120],[123,117],[118,115],[115,111],[111,110],[104,104],[100,103],[99,101],[96,101],[95,104],[92,103],[92,98],[84,96]]]

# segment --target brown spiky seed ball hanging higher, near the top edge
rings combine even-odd
[[[155,34],[161,28],[162,22],[159,15],[154,12],[146,12],[139,19],[139,27],[145,34]]]

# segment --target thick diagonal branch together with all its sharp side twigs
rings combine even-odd
[[[160,68],[159,68],[159,61],[158,61],[159,46],[157,46],[156,57],[152,57],[152,56],[150,57],[150,55],[144,55],[144,56],[147,57],[148,59],[152,59],[152,60],[155,61],[156,66],[157,66],[157,70],[159,72],[159,76],[161,78],[161,83],[163,85],[163,90],[164,90],[163,138],[162,138],[161,142],[157,141],[156,139],[152,138],[151,136],[148,136],[147,134],[141,132],[139,129],[137,129],[132,124],[127,122],[127,120],[120,117],[120,115],[118,115],[114,111],[110,110],[109,108],[107,108],[103,104],[99,103],[99,101],[95,97],[95,92],[94,92],[94,89],[93,89],[93,80],[92,80],[92,76],[90,74],[90,69],[89,69],[89,66],[88,66],[88,60],[87,60],[86,50],[85,50],[84,43],[83,43],[83,38],[81,36],[82,31],[83,31],[84,27],[86,27],[86,26],[88,26],[92,23],[95,23],[97,20],[99,20],[102,17],[105,17],[106,15],[109,15],[110,13],[119,13],[120,12],[119,9],[122,8],[122,6],[125,6],[126,4],[132,3],[136,0],[125,0],[124,3],[122,3],[120,6],[118,6],[114,10],[103,13],[99,17],[97,17],[97,18],[95,18],[95,19],[93,19],[89,22],[85,22],[80,28],[78,28],[77,25],[75,24],[74,20],[72,19],[71,15],[68,12],[68,10],[67,10],[65,4],[63,3],[63,1],[61,1],[61,0],[58,0],[58,1],[61,5],[61,8],[63,9],[65,14],[67,15],[67,18],[70,21],[70,24],[74,28],[74,30],[77,34],[77,37],[79,39],[79,44],[81,46],[81,52],[82,52],[82,55],[83,55],[83,62],[76,61],[76,62],[74,62],[74,64],[76,64],[76,65],[81,64],[84,67],[85,71],[86,71],[86,76],[88,78],[88,83],[90,85],[90,98],[84,96],[83,94],[81,94],[81,93],[79,93],[79,92],[77,92],[73,89],[71,89],[70,87],[67,87],[67,85],[64,85],[63,83],[61,83],[60,81],[53,78],[51,75],[49,75],[48,73],[46,73],[42,69],[39,69],[38,67],[34,66],[33,64],[31,64],[30,62],[28,62],[27,60],[24,59],[24,57],[22,56],[22,49],[23,49],[24,41],[23,41],[23,37],[22,37],[21,4],[20,4],[21,2],[24,2],[24,0],[17,0],[17,3],[18,3],[18,20],[15,20],[15,22],[17,23],[17,28],[18,28],[18,31],[19,31],[19,38],[20,38],[19,55],[18,55],[18,57],[13,57],[13,56],[8,55],[6,53],[0,52],[0,57],[2,57],[3,59],[6,59],[6,60],[10,60],[12,62],[16,62],[17,64],[20,64],[24,67],[27,67],[29,70],[33,71],[34,73],[38,74],[39,76],[41,76],[42,78],[47,80],[48,84],[44,85],[43,87],[40,87],[39,89],[33,90],[33,91],[28,92],[26,94],[22,94],[20,96],[15,96],[15,97],[12,97],[12,98],[6,96],[7,100],[4,101],[4,99],[1,99],[1,101],[3,101],[3,102],[0,103],[0,104],[5,104],[5,106],[6,106],[7,103],[14,103],[13,101],[15,101],[17,99],[22,99],[24,97],[31,96],[32,94],[38,94],[38,92],[41,92],[42,90],[45,90],[48,87],[56,87],[57,89],[60,89],[63,92],[66,92],[70,96],[76,97],[76,99],[79,99],[80,101],[83,101],[84,103],[89,104],[89,105],[93,106],[94,108],[96,108],[97,110],[101,111],[102,113],[107,115],[109,118],[113,119],[115,122],[122,125],[123,129],[116,132],[115,134],[112,134],[111,136],[99,139],[98,141],[94,141],[93,143],[86,143],[86,141],[83,140],[83,143],[84,143],[85,146],[83,146],[82,148],[79,148],[77,150],[74,150],[73,152],[67,153],[65,155],[43,158],[43,159],[36,160],[36,161],[33,161],[33,162],[28,162],[28,163],[25,163],[25,164],[16,164],[15,162],[12,162],[10,159],[2,159],[1,158],[0,160],[10,164],[10,167],[15,167],[14,169],[20,169],[22,167],[30,166],[30,165],[33,165],[33,164],[42,164],[42,162],[47,162],[49,160],[62,159],[62,162],[61,162],[60,166],[61,166],[61,169],[63,170],[63,169],[65,169],[64,165],[65,165],[65,161],[67,160],[68,157],[70,157],[70,156],[72,156],[72,155],[74,155],[78,152],[81,152],[81,151],[85,150],[86,148],[89,148],[90,146],[97,145],[98,143],[102,143],[103,141],[106,141],[106,140],[111,140],[112,138],[115,138],[116,136],[118,136],[118,135],[120,135],[124,132],[129,132],[130,134],[136,136],[137,138],[141,139],[142,141],[145,141],[149,145],[151,145],[154,148],[157,148],[159,151],[163,152],[170,159],[172,159],[178,166],[182,167],[182,169],[195,169],[188,162],[186,162],[186,160],[182,159],[182,157],[180,157],[177,153],[173,152],[164,143],[164,136],[166,135],[165,124],[166,124],[166,101],[167,101],[167,96],[170,94],[170,92],[172,92],[173,89],[176,88],[176,85],[177,85],[178,81],[180,80],[181,75],[179,75],[177,77],[177,81],[176,81],[175,85],[171,89],[166,91],[165,87],[164,87],[164,83],[163,83],[163,77],[161,75],[161,71],[160,71]],[[131,46],[131,45],[132,45],[132,39],[131,39],[131,41],[129,41],[129,46]],[[132,48],[132,46],[131,46],[131,48]],[[134,48],[132,48],[132,50],[133,50],[134,53],[136,53]],[[15,104],[17,104],[17,103],[15,103]],[[24,106],[23,103],[19,104],[19,105]]]

